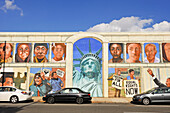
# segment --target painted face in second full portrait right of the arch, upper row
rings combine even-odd
[[[141,46],[139,44],[130,44],[128,46],[129,59],[133,62],[138,62],[141,53]]]

